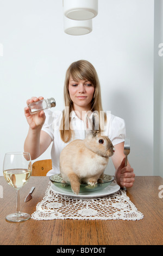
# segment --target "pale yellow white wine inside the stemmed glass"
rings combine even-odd
[[[10,169],[3,171],[5,180],[10,186],[16,189],[22,188],[28,182],[31,174],[31,169]]]

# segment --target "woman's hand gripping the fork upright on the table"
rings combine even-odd
[[[121,188],[126,187],[130,188],[133,186],[135,181],[135,174],[133,168],[130,165],[125,166],[125,157],[122,160],[122,163],[115,172],[115,177],[117,184]]]

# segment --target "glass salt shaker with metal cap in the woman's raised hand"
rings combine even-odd
[[[29,113],[35,114],[36,112],[40,112],[41,110],[53,108],[55,106],[55,99],[41,99],[38,102],[33,102],[28,104]]]

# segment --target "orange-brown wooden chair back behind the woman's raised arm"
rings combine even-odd
[[[32,164],[32,176],[46,176],[47,172],[52,169],[52,160],[39,160]]]

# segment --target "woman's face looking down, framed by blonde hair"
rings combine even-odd
[[[91,110],[91,100],[93,98],[93,93],[95,92],[95,87],[90,81],[73,81],[72,77],[70,76],[68,91],[73,102],[74,110],[78,108]]]

